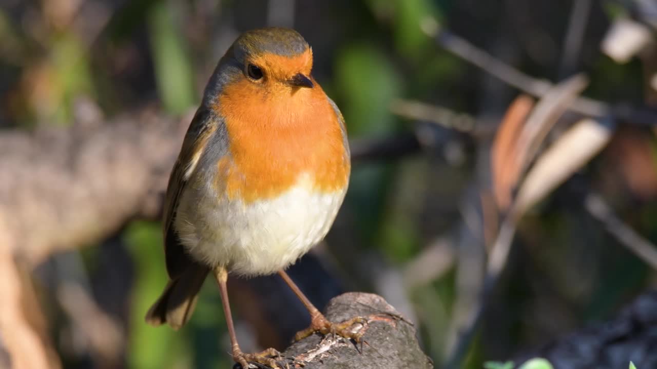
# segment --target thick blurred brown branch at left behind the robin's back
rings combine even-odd
[[[152,112],[70,129],[0,133],[3,248],[31,265],[156,217],[189,117]]]

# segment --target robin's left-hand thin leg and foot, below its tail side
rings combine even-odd
[[[245,354],[240,350],[240,345],[237,343],[237,336],[235,336],[235,326],[233,326],[233,316],[231,315],[231,304],[228,301],[228,271],[223,267],[216,267],[214,269],[214,277],[219,284],[219,292],[221,293],[221,305],[223,305],[223,313],[226,316],[226,324],[228,326],[228,334],[231,336],[231,345],[233,351],[233,360],[238,362],[242,369],[248,369],[249,362],[257,362],[258,364],[265,364],[272,368],[280,368],[281,365],[273,358],[280,357],[281,353],[275,349],[269,348],[260,353]]]

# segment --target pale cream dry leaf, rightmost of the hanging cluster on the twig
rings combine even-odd
[[[582,119],[538,158],[523,181],[514,203],[516,219],[583,167],[612,137],[612,130]]]

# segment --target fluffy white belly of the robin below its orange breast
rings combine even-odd
[[[248,205],[190,196],[179,207],[175,229],[196,259],[242,275],[271,274],[288,267],[326,236],[345,190],[312,192],[307,177],[278,198]]]

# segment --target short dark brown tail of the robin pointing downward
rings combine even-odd
[[[170,280],[158,301],[148,309],[146,322],[153,326],[168,323],[174,330],[181,328],[194,313],[198,291],[208,272],[208,268],[194,265]]]

